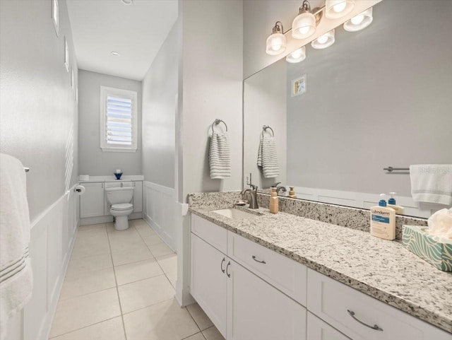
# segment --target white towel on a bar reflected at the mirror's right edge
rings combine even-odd
[[[410,165],[413,201],[452,204],[452,164]]]

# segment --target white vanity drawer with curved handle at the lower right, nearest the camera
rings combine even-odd
[[[312,269],[308,291],[308,310],[353,340],[451,340],[451,334]]]

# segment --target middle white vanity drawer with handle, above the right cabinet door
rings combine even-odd
[[[230,231],[227,256],[306,306],[307,267],[303,264]]]

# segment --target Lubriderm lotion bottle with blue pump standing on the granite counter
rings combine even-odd
[[[396,211],[386,206],[385,194],[380,194],[378,206],[370,209],[370,233],[377,238],[394,240],[396,238]]]

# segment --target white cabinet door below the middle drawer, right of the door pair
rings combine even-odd
[[[226,273],[228,340],[306,339],[306,308],[237,262]]]

